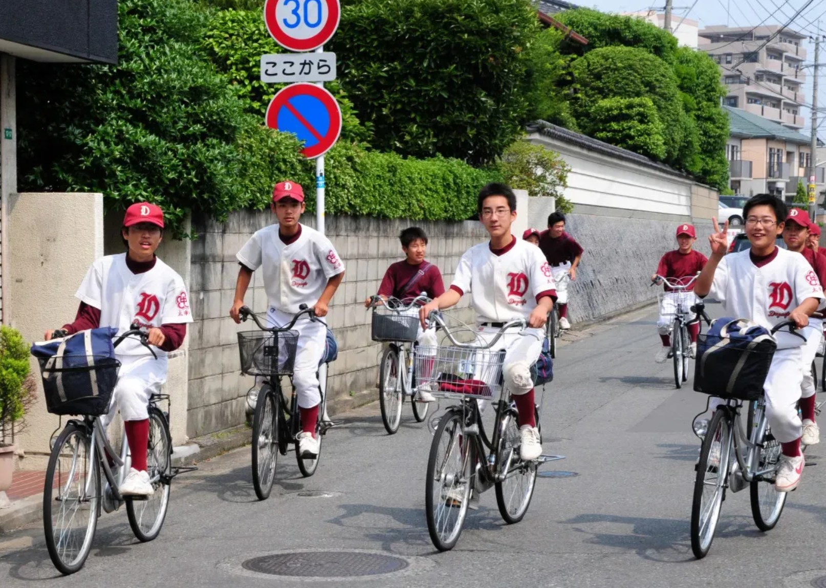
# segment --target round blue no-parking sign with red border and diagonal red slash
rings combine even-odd
[[[303,141],[301,153],[308,159],[330,151],[341,134],[341,109],[335,97],[306,82],[291,84],[273,96],[265,120],[270,129]]]

